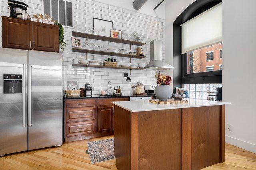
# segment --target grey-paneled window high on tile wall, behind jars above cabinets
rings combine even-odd
[[[73,27],[73,4],[68,0],[44,0],[44,14],[61,23],[63,26]]]

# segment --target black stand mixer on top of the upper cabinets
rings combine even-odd
[[[16,8],[20,8],[24,11],[26,11],[28,8],[28,4],[25,4],[24,2],[19,2],[16,0],[8,0],[8,9],[10,9],[10,17],[12,18],[17,18],[18,14],[22,14],[22,13],[18,13],[16,12]]]

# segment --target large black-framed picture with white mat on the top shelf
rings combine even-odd
[[[102,35],[110,37],[110,29],[114,28],[114,22],[108,20],[102,20],[99,18],[92,18],[92,27],[94,29],[99,29],[100,31],[94,31],[94,35]]]

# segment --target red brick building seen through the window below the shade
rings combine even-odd
[[[222,43],[187,53],[187,73],[222,70]]]

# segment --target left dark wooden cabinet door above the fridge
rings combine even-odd
[[[3,47],[32,49],[33,24],[31,21],[3,17]]]

